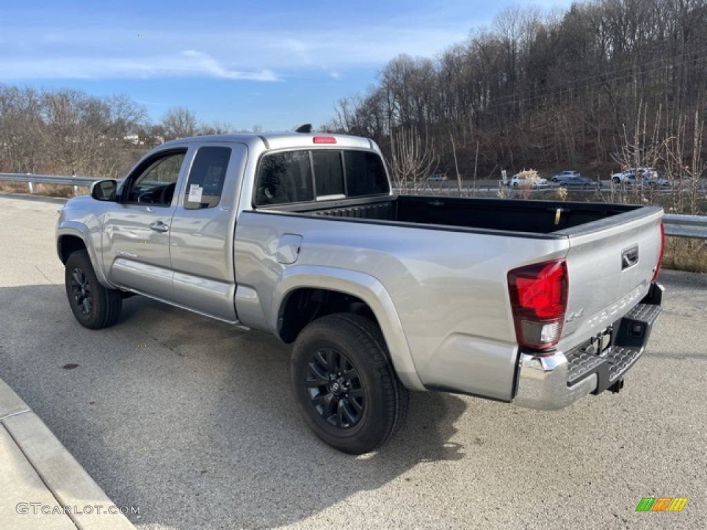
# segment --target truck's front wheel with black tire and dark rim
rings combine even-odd
[[[66,298],[78,323],[88,329],[115,324],[120,316],[122,294],[98,281],[86,250],[72,252],[64,269]]]

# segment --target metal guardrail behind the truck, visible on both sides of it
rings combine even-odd
[[[79,186],[90,186],[100,180],[94,177],[62,177],[60,175],[26,175],[22,173],[0,173],[0,182],[26,182],[30,193],[34,193],[33,184],[65,184],[78,191]],[[707,216],[682,216],[666,213],[663,216],[665,235],[673,237],[696,237],[707,239]]]

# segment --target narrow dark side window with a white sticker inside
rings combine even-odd
[[[230,147],[199,148],[184,193],[185,210],[218,206],[229,159]]]

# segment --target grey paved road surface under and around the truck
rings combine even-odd
[[[706,276],[662,274],[621,394],[544,413],[416,393],[399,435],[354,458],[308,431],[270,336],[138,297],[111,329],[79,326],[57,207],[0,196],[0,377],[140,529],[707,526]],[[689,502],[634,511],[660,496]]]

